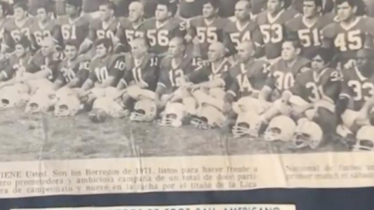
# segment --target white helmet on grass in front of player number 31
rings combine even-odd
[[[321,145],[323,131],[319,125],[307,118],[301,118],[297,121],[297,127],[292,137],[292,143],[295,149],[309,147],[316,149]]]

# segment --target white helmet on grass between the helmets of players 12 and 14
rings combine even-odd
[[[222,127],[224,121],[225,116],[220,110],[211,105],[202,105],[197,117],[191,119],[191,124],[199,129],[213,129]]]

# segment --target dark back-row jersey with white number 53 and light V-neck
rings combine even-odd
[[[286,38],[285,24],[297,15],[298,13],[293,9],[282,10],[275,17],[272,17],[267,10],[258,14],[256,23],[263,35],[267,59],[275,59],[281,55],[282,44]]]

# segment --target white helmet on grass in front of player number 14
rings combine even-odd
[[[255,112],[244,112],[238,115],[236,123],[232,128],[234,138],[248,135],[251,138],[258,137],[261,126],[261,117]]]

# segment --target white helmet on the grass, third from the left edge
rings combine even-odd
[[[56,117],[74,116],[78,113],[80,101],[74,95],[59,96],[55,104],[54,115]]]

